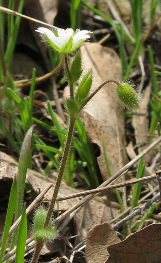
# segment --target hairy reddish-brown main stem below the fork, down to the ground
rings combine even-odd
[[[62,158],[62,161],[61,161],[61,167],[60,167],[60,170],[59,170],[58,178],[56,180],[54,193],[53,193],[52,200],[51,200],[51,203],[50,203],[50,206],[49,206],[49,210],[48,210],[48,213],[47,213],[47,217],[46,217],[46,221],[45,221],[44,227],[46,227],[49,224],[49,220],[50,220],[50,218],[52,216],[53,208],[54,208],[54,205],[55,205],[55,202],[56,202],[56,197],[57,197],[57,194],[58,194],[58,191],[59,191],[59,187],[60,187],[61,180],[62,180],[62,177],[63,177],[64,169],[65,169],[65,166],[66,166],[66,161],[67,161],[67,158],[68,158],[68,153],[69,153],[70,144],[71,144],[72,135],[73,135],[73,130],[74,130],[74,125],[75,125],[75,120],[76,120],[76,118],[70,119],[70,122],[69,122],[69,129],[68,129],[68,136],[67,136],[67,140],[66,140],[66,146],[65,146],[65,149],[64,149],[64,154],[63,154],[63,158]],[[40,243],[38,243],[36,245],[36,250],[35,250],[35,254],[34,254],[32,263],[36,263],[37,262],[37,259],[38,259],[38,256],[39,256],[39,253],[40,253],[42,247],[43,247],[43,241],[41,241]]]

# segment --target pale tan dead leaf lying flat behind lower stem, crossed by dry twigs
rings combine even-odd
[[[18,163],[14,158],[7,155],[6,153],[0,152],[0,180],[8,177],[13,178],[15,173],[17,174]],[[52,182],[55,184],[57,173],[53,173],[52,179],[44,177],[38,172],[32,171],[30,169],[27,170],[26,175],[26,183],[28,183],[35,192],[39,193],[45,188],[48,182]],[[0,181],[1,183],[1,181]],[[52,187],[48,193],[48,200],[51,200],[52,194],[54,191],[54,187]],[[63,195],[69,195],[72,193],[79,193],[79,190],[69,187],[66,182],[63,180],[61,183],[60,191]],[[59,204],[60,210],[67,210],[71,208],[73,205],[79,202],[80,198],[73,198],[69,200],[63,200],[62,203]],[[57,207],[55,206],[55,209]],[[78,237],[77,242],[82,241],[86,238],[88,231],[95,225],[100,224],[102,222],[110,221],[112,218],[116,217],[119,213],[119,210],[110,206],[110,204],[105,204],[103,198],[102,202],[99,198],[91,200],[87,203],[81,210],[79,210],[75,216]]]

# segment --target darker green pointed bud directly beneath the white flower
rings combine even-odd
[[[75,59],[73,60],[71,69],[70,69],[70,76],[71,76],[72,84],[75,84],[80,78],[82,71],[83,71],[81,70],[81,66],[82,66],[81,56],[79,53],[77,53]]]

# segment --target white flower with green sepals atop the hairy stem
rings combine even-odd
[[[74,30],[72,28],[52,27],[52,31],[46,27],[38,27],[36,32],[43,34],[50,46],[61,53],[70,53],[77,49],[86,39],[90,38],[91,31],[88,30]]]

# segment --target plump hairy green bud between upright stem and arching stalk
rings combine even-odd
[[[92,85],[92,70],[84,76],[79,87],[77,89],[77,93],[75,95],[75,103],[77,104],[78,108],[82,105],[82,103],[86,100],[89,91]]]

